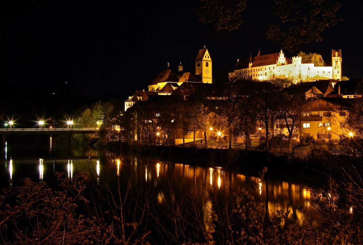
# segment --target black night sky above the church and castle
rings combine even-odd
[[[279,52],[266,39],[270,6],[248,1],[238,30],[216,31],[197,20],[197,1],[8,1],[1,10],[1,83],[17,88],[68,83],[90,98],[131,95],[170,62],[194,71],[197,52],[207,46],[213,76],[227,80],[238,58]],[[318,52],[331,64],[331,50],[342,49],[342,73],[362,78],[362,4],[346,1],[344,21],[322,34],[322,42],[299,50]],[[297,51],[298,52],[298,51]],[[285,56],[291,58],[297,52]]]

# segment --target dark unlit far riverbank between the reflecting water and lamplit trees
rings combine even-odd
[[[276,156],[271,152],[241,149],[198,148],[164,145],[129,145],[125,142],[107,145],[108,151],[138,153],[163,161],[180,162],[203,167],[235,169],[258,176],[267,167],[265,178],[314,181],[326,172],[322,162],[309,159],[308,152],[285,153]]]

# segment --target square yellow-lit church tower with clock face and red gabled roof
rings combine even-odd
[[[195,58],[195,75],[201,76],[202,83],[212,83],[212,58],[205,46]]]

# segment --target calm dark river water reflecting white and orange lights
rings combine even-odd
[[[290,210],[301,217],[302,223],[306,217],[315,215],[313,209],[306,215],[299,211],[300,206],[309,207],[311,198],[308,187],[299,183],[261,180],[258,176],[246,176],[219,167],[204,168],[112,153],[105,155],[86,146],[7,145],[1,152],[2,188],[19,185],[26,177],[52,185],[55,172],[64,173],[70,179],[78,172],[86,172],[97,183],[120,176],[125,185],[131,183],[134,187],[152,188],[150,193],[153,196],[150,198],[160,205],[170,200],[178,202],[185,194],[193,194],[198,196],[200,206],[209,213],[216,197],[246,189],[265,204],[269,215],[277,210]],[[134,176],[132,180],[128,178],[130,172]]]

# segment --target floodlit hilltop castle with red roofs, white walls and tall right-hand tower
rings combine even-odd
[[[342,52],[332,50],[333,66],[315,66],[313,63],[303,64],[301,56],[294,56],[292,59],[285,57],[282,50],[280,53],[250,56],[246,59],[238,59],[233,71],[228,74],[229,81],[237,77],[250,77],[253,80],[266,81],[275,76],[284,75],[291,77],[295,82],[301,80],[317,81],[342,79]],[[319,60],[323,62],[322,58]]]

